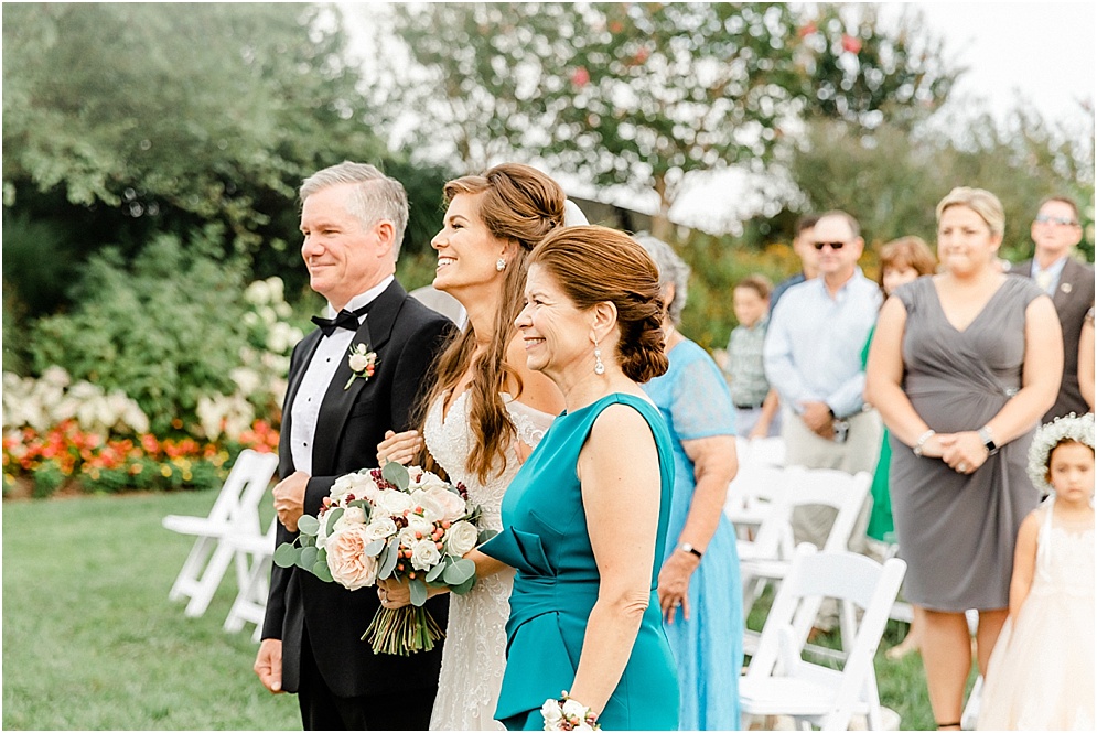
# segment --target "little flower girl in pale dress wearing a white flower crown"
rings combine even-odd
[[[1094,416],[1036,431],[1032,483],[1052,496],[1018,533],[1010,616],[988,664],[980,730],[1094,730]]]

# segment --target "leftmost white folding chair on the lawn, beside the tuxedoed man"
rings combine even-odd
[[[222,540],[229,536],[260,536],[259,502],[277,468],[276,454],[246,449],[233,465],[208,516],[173,514],[163,518],[165,529],[196,538],[168,594],[172,601],[190,599],[185,612],[187,616],[201,616],[206,612],[234,558],[237,581],[240,584],[245,582],[247,563]]]

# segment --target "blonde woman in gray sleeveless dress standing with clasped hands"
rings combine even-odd
[[[1052,301],[998,267],[1004,215],[980,188],[937,205],[943,272],[897,288],[869,354],[865,398],[891,431],[905,592],[926,610],[922,658],[938,729],[959,729],[979,612],[979,668],[1005,622],[1013,543],[1040,495],[1032,432],[1055,401],[1063,345]]]

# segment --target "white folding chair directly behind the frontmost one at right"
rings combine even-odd
[[[762,595],[768,583],[781,581],[791,568],[794,553],[792,516],[797,506],[829,506],[837,511],[830,533],[821,548],[828,552],[841,552],[849,546],[849,540],[857,525],[857,518],[864,506],[865,497],[872,485],[872,476],[865,472],[851,475],[845,471],[830,468],[804,468],[788,466],[785,470],[785,484],[781,500],[774,506],[774,517],[771,519],[779,533],[777,552],[768,556],[748,556],[740,558],[740,573],[743,582],[743,613],[750,614],[754,602]],[[852,635],[854,621],[852,610],[848,604],[841,608],[842,639]],[[744,648],[753,653],[757,644],[755,632],[748,632],[744,637]],[[842,644],[843,649],[846,644]],[[816,647],[813,647],[816,649]],[[831,653],[817,649],[829,656],[842,653]]]

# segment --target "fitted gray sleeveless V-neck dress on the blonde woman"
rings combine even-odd
[[[906,306],[903,390],[938,433],[978,430],[1021,388],[1024,311],[1043,292],[1005,278],[962,332],[945,317],[932,277],[895,290]],[[891,495],[904,595],[934,611],[1009,606],[1018,528],[1040,504],[1025,474],[1033,429],[961,475],[891,436]]]

